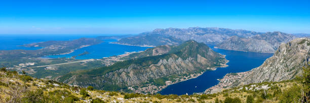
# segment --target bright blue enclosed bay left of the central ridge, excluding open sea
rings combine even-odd
[[[149,47],[110,44],[110,42],[116,42],[116,40],[104,40],[104,42],[101,44],[84,47],[84,48],[75,50],[74,52],[70,54],[50,55],[47,57],[50,57],[50,58],[72,57],[72,56],[78,56],[79,54],[82,54],[85,51],[87,51],[89,52],[89,54],[75,57],[75,59],[92,59],[92,58],[100,59],[102,57],[109,57],[113,55],[124,54],[125,52],[144,51],[145,49],[149,48]]]

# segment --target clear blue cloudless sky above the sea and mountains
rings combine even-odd
[[[310,1],[0,1],[0,34],[130,34],[196,26],[310,33]]]

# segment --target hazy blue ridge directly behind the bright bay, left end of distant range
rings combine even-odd
[[[182,42],[182,40],[158,33],[141,33],[135,37],[122,38],[115,42],[115,44],[155,47],[160,45],[179,45]]]

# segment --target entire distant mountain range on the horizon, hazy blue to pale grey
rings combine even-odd
[[[281,43],[294,38],[294,35],[278,31],[264,33],[217,27],[189,27],[154,29],[134,37],[122,38],[115,44],[155,47],[179,45],[182,41],[195,40],[216,45],[220,49],[274,53]]]

